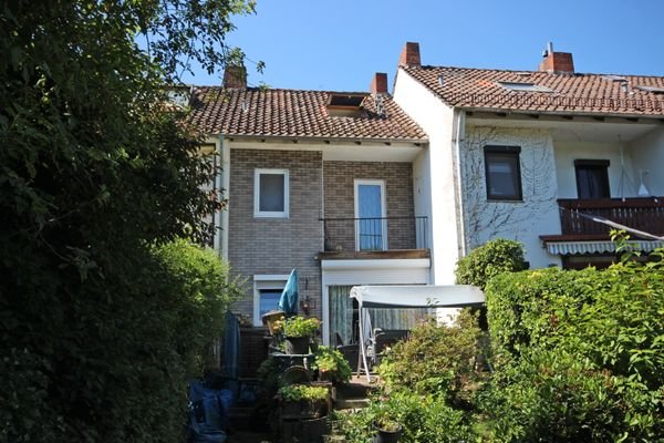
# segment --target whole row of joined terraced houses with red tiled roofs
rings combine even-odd
[[[190,105],[222,162],[216,248],[248,278],[235,308],[253,327],[293,268],[300,311],[347,343],[351,286],[454,284],[491,238],[523,243],[532,268],[609,264],[598,219],[662,245],[661,76],[579,73],[552,45],[536,71],[429,66],[407,43],[393,96],[385,74],[369,92],[263,90],[231,68]]]

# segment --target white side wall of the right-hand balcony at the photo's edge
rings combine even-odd
[[[664,195],[664,128],[656,128],[630,144],[634,181],[640,184],[639,169],[647,171],[643,182],[651,195]]]

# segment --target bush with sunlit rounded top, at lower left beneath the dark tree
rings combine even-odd
[[[0,360],[0,442],[181,441],[187,382],[237,293],[227,271],[177,240],[37,311],[51,321],[25,323]]]

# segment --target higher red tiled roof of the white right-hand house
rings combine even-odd
[[[618,115],[664,115],[664,78],[407,66],[411,76],[450,106],[466,109]],[[611,78],[624,79],[624,81]],[[552,92],[511,91],[498,82],[532,83]]]

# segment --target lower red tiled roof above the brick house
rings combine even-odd
[[[208,134],[426,141],[426,134],[390,95],[362,102],[360,116],[330,116],[333,92],[195,87],[191,122]]]

